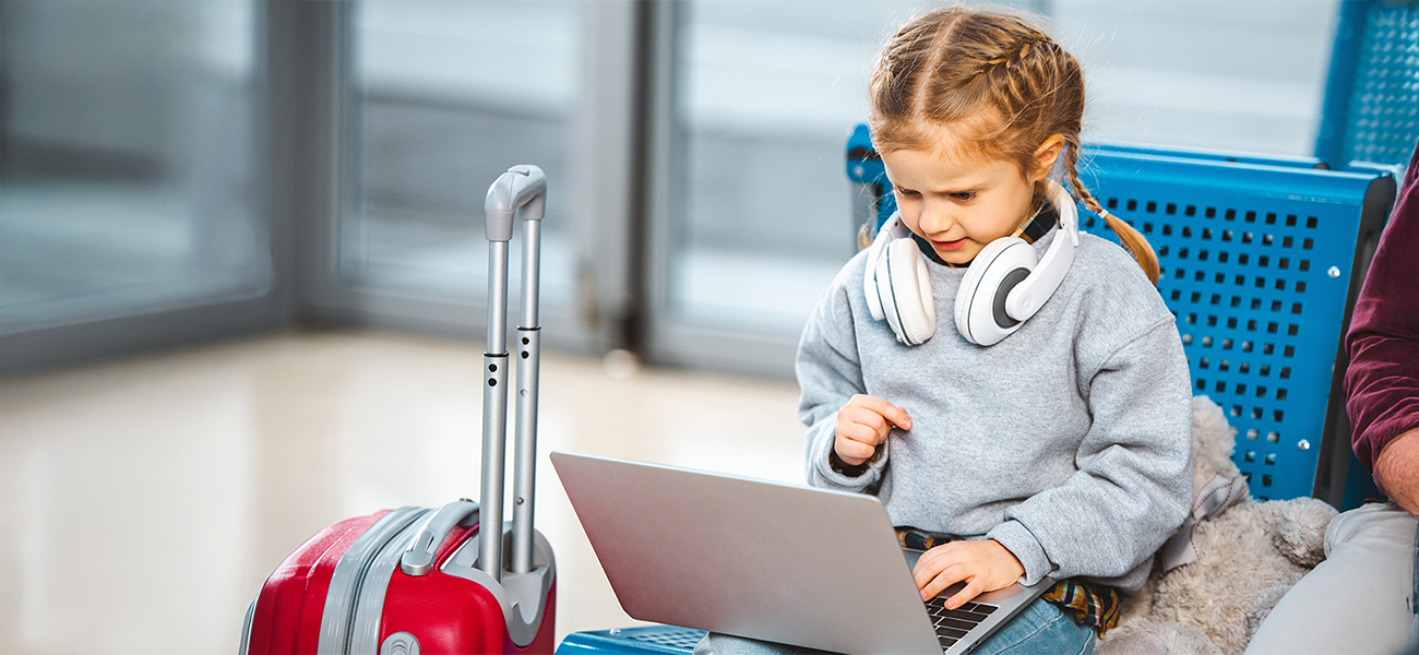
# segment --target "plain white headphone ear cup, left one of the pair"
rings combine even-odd
[[[931,293],[931,275],[915,241],[901,238],[887,247],[878,262],[877,285],[887,323],[898,340],[917,346],[937,333],[937,302]]]

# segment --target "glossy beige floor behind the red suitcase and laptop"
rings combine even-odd
[[[481,364],[477,343],[316,333],[0,381],[0,652],[234,652],[261,581],[325,525],[478,495]],[[548,451],[800,478],[792,383],[610,370],[543,354],[559,639],[634,622]]]

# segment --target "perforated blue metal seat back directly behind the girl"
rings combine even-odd
[[[866,135],[866,128],[861,128]],[[849,177],[884,194],[880,159],[849,150]],[[1091,146],[1081,181],[1152,244],[1193,393],[1237,428],[1233,459],[1259,499],[1347,500],[1349,424],[1341,339],[1393,201],[1386,170],[1331,172],[1307,157]],[[861,176],[854,176],[863,172]],[[877,173],[878,177],[873,177]],[[1081,227],[1118,242],[1103,218]]]

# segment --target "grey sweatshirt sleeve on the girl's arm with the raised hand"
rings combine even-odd
[[[844,278],[849,278],[846,272],[819,301],[799,342],[795,362],[800,388],[799,420],[807,425],[805,448],[807,483],[866,492],[881,479],[887,465],[887,444],[877,448],[877,455],[867,471],[857,476],[833,471],[829,459],[833,452],[837,410],[854,394],[864,393],[853,308],[849,302],[853,286],[841,284]]]

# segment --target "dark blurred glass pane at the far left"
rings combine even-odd
[[[0,333],[270,286],[254,16],[0,3]]]

